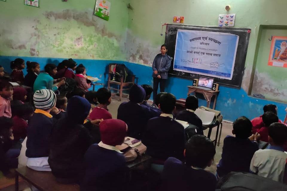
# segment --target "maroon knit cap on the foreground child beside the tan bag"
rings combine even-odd
[[[104,144],[120,145],[126,136],[126,123],[119,119],[106,119],[100,123],[100,133]]]

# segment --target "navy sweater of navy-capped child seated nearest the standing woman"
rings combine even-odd
[[[150,118],[161,115],[161,111],[132,101],[123,102],[117,110],[117,118],[128,125],[128,136],[141,139],[144,127]]]

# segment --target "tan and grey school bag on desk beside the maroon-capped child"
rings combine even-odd
[[[127,162],[134,161],[146,152],[146,146],[138,139],[125,137],[125,141],[116,148],[124,153]]]

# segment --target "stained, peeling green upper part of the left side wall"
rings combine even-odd
[[[126,60],[128,0],[110,0],[110,20],[93,16],[95,0],[0,1],[0,55]]]

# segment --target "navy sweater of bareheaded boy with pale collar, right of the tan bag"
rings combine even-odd
[[[148,121],[143,143],[147,153],[157,159],[183,158],[184,127],[170,117],[155,117]]]

